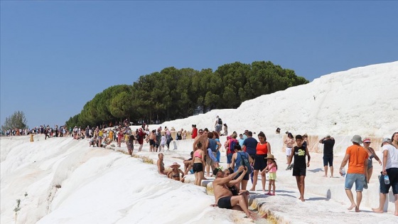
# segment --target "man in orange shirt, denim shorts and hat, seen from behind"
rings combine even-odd
[[[354,135],[352,146],[349,146],[345,151],[345,156],[340,166],[340,174],[343,175],[342,169],[348,162],[347,176],[345,177],[345,193],[347,193],[348,199],[350,199],[351,206],[348,210],[355,207],[355,211],[360,211],[360,203],[362,201],[362,190],[365,186],[367,188],[367,154],[366,149],[364,149],[360,144],[362,144],[362,138],[359,135]],[[357,192],[357,203],[355,204],[353,192],[353,184],[355,182],[355,191]]]

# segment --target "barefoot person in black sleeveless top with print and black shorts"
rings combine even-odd
[[[301,201],[304,200],[304,189],[306,188],[306,167],[310,166],[311,156],[308,153],[308,149],[306,146],[303,146],[303,137],[300,134],[296,135],[296,144],[294,148],[291,150],[291,154],[289,157],[289,166],[291,164],[291,160],[294,157],[294,166],[293,166],[293,176],[296,176],[297,188],[300,192]],[[306,156],[308,156],[308,162],[306,163]]]

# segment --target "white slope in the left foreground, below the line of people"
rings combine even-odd
[[[126,154],[89,148],[87,140],[3,137],[0,148],[0,223],[248,222],[244,213],[210,207],[214,197],[205,188],[160,176]]]

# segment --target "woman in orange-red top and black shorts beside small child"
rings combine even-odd
[[[257,143],[256,147],[256,155],[254,156],[254,173],[253,173],[253,186],[250,191],[256,191],[257,178],[259,175],[259,171],[262,171],[267,167],[267,156],[271,154],[271,145],[267,142],[267,137],[263,132],[260,132],[257,136],[259,138],[259,143]],[[262,175],[262,191],[265,192],[265,173],[261,173]]]

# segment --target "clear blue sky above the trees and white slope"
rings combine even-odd
[[[270,60],[312,81],[398,60],[397,1],[1,1],[0,122],[64,124],[163,68]],[[370,85],[372,85],[370,83]]]

